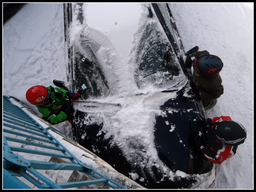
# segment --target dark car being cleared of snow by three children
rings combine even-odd
[[[206,114],[195,99],[171,10],[163,3],[141,6],[144,24],[122,68],[108,37],[86,26],[84,4],[64,4],[67,86],[73,92],[87,87],[73,105],[73,134],[145,188],[207,188],[215,166],[199,154],[193,138],[201,131],[195,119]],[[84,33],[74,43],[77,22]]]

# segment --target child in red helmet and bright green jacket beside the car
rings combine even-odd
[[[70,121],[71,102],[75,99],[75,93],[63,88],[53,88],[36,85],[28,89],[26,98],[29,103],[36,105],[42,118],[51,124]]]

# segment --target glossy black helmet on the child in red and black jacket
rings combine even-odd
[[[235,121],[221,121],[215,126],[215,137],[225,145],[240,145],[246,139],[243,125]]]

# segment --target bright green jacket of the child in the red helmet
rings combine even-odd
[[[64,122],[70,118],[69,114],[66,114],[61,109],[58,114],[54,115],[55,110],[62,105],[64,107],[64,101],[66,100],[66,93],[68,90],[62,88],[53,88],[52,86],[46,87],[50,90],[49,103],[45,105],[36,106],[40,113],[43,114],[43,119],[51,124],[58,124]]]

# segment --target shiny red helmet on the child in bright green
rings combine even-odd
[[[28,89],[26,98],[33,105],[44,105],[48,101],[50,91],[43,85],[36,85]]]

